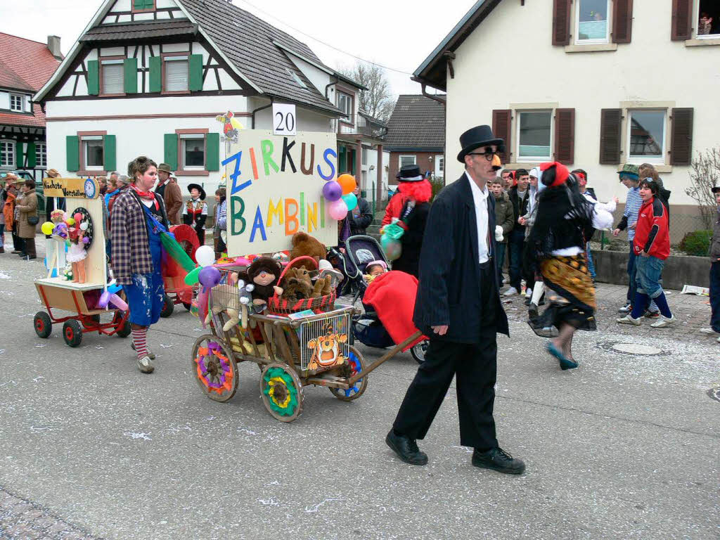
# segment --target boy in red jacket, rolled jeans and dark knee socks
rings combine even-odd
[[[641,318],[650,300],[654,300],[660,308],[660,320],[652,323],[653,328],[663,328],[675,323],[675,317],[667,305],[665,292],[660,285],[662,266],[670,255],[670,229],[667,220],[667,208],[658,198],[660,186],[652,178],[640,182],[640,198],[642,207],[637,217],[633,252],[636,259],[637,290],[632,312],[618,323],[640,325]]]

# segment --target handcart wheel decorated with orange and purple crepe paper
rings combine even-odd
[[[200,390],[211,400],[228,401],[238,390],[235,356],[212,334],[200,336],[192,346],[192,370]]]

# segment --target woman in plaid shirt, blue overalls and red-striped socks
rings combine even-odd
[[[155,161],[145,156],[135,158],[128,164],[127,174],[132,178],[130,189],[121,192],[112,206],[111,264],[130,306],[132,348],[138,354],[138,368],[152,373],[155,355],[147,346],[147,333],[163,309],[160,233],[170,225],[163,198],[150,191],[158,177]]]

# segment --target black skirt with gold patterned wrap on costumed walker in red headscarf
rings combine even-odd
[[[567,323],[579,330],[597,330],[595,287],[585,253],[546,258],[540,262],[540,271],[548,289],[545,295],[549,306],[537,320],[531,321],[531,328],[538,333],[537,330],[559,328]]]

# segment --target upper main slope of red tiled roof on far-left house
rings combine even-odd
[[[37,92],[58,66],[47,43],[0,32],[0,86]]]

